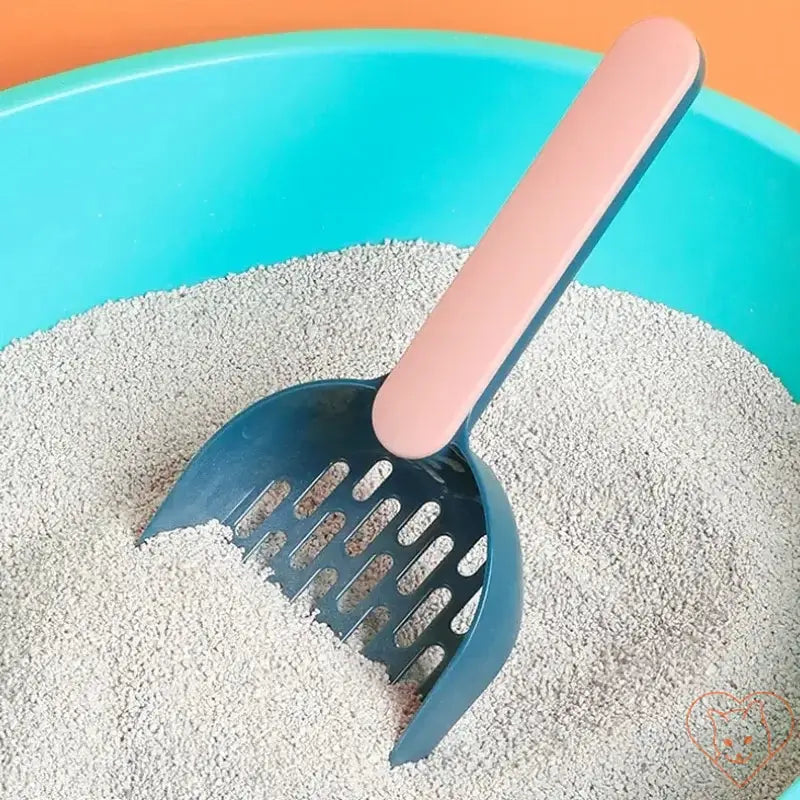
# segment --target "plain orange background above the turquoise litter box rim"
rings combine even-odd
[[[188,42],[314,28],[480,31],[603,50],[669,14],[705,49],[707,84],[800,129],[800,0],[0,0],[0,88]]]

